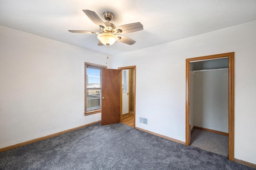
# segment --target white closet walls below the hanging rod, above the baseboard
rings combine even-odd
[[[195,72],[194,126],[228,133],[228,70]]]

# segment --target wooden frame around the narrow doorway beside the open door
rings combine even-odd
[[[118,67],[119,70],[129,70],[129,69],[134,69],[134,125],[133,127],[135,128],[135,114],[136,114],[136,66],[126,66],[126,67]],[[122,114],[122,78],[123,78],[123,74],[120,73],[120,122],[122,122],[123,119],[123,114]],[[130,93],[130,92],[129,92]]]

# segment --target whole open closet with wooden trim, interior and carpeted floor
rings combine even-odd
[[[234,161],[234,52],[186,59],[186,145]]]

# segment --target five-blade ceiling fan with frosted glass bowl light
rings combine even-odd
[[[96,25],[100,27],[100,32],[79,31],[79,30],[68,30],[68,31],[72,33],[96,34],[98,35],[97,37],[99,39],[98,45],[109,46],[114,44],[116,41],[120,41],[128,45],[132,45],[136,41],[119,34],[132,33],[135,31],[143,30],[143,25],[140,22],[130,23],[130,24],[116,27],[116,25],[110,22],[114,17],[114,14],[112,12],[108,12],[108,11],[103,12],[103,17],[106,20],[106,22],[103,22],[100,19],[100,17],[93,11],[83,10],[83,12],[88,16],[88,18],[90,18],[90,20],[92,20],[92,22],[94,22]]]

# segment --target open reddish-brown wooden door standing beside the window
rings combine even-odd
[[[120,72],[121,70],[102,69],[101,125],[120,122]]]

